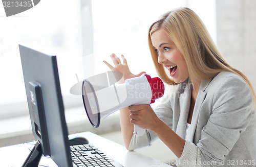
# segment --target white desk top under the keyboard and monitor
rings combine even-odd
[[[136,166],[169,166],[161,161],[144,156],[136,151],[127,151],[124,146],[121,146],[111,140],[98,136],[91,132],[83,132],[73,134],[71,136],[83,136],[89,140],[89,144],[96,146],[105,155],[115,159],[125,167]],[[29,154],[29,144],[19,144],[0,148],[0,166],[21,166]],[[56,166],[51,158],[42,157],[39,163],[44,166]]]

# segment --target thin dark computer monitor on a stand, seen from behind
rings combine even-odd
[[[58,166],[73,166],[56,56],[23,45],[19,45],[19,52],[32,131],[38,141],[24,166],[36,166],[42,154]]]

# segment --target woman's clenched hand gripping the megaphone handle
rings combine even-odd
[[[158,118],[150,105],[133,105],[129,106],[128,109],[131,113],[130,122],[132,124],[152,131],[155,131],[158,128],[158,125],[160,125],[159,122],[161,122],[161,120]]]

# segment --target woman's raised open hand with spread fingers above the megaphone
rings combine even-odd
[[[113,67],[111,64],[109,64],[108,62],[106,61],[103,61],[106,65],[108,65],[108,67],[112,70],[112,71],[119,71],[123,74],[123,79],[121,79],[121,81],[119,81],[118,83],[124,83],[124,80],[126,79],[129,79],[129,78],[134,78],[134,77],[139,77],[141,76],[143,73],[145,73],[144,71],[137,74],[137,75],[134,75],[131,73],[128,65],[127,65],[127,61],[126,59],[124,58],[123,55],[121,55],[122,59],[123,59],[123,64],[121,63],[120,59],[115,55],[115,54],[112,54],[110,55],[115,67]]]

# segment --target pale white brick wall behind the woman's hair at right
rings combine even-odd
[[[217,45],[256,88],[256,1],[216,0]]]

